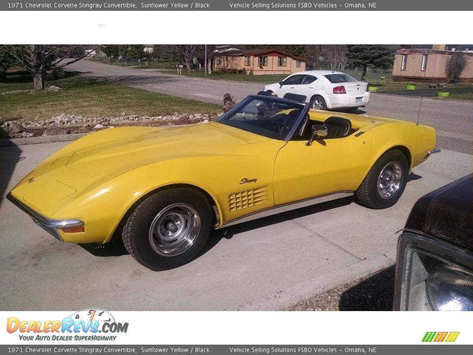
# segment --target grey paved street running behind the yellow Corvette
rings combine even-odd
[[[137,88],[216,104],[223,104],[223,95],[227,92],[230,92],[236,100],[241,100],[263,89],[262,84],[169,75],[89,60],[76,62],[65,69]],[[370,104],[358,110],[358,113],[415,122],[420,103],[420,98],[372,93]],[[423,98],[420,108],[419,122],[433,126],[437,130],[440,148],[473,153],[473,102]]]

